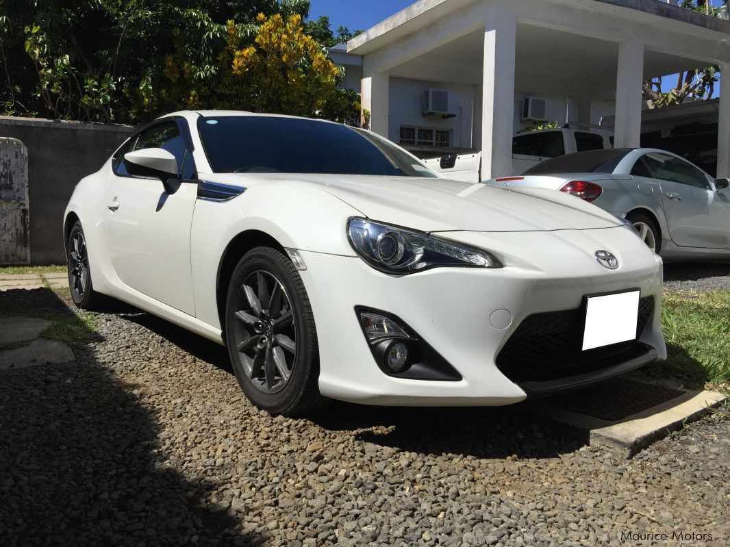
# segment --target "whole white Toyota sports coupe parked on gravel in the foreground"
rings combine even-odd
[[[64,235],[78,306],[225,344],[272,413],[506,405],[666,357],[661,258],[626,222],[336,123],[161,117],[77,185]]]

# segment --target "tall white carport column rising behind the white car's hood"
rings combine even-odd
[[[488,4],[484,29],[482,180],[512,174],[517,17],[507,2]]]

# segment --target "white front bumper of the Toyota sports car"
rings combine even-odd
[[[661,258],[630,230],[441,233],[493,252],[504,268],[434,268],[407,276],[376,271],[358,257],[301,250],[301,277],[315,315],[322,395],[354,403],[398,406],[498,406],[534,393],[577,387],[635,368],[666,349],[659,322]],[[585,249],[585,250],[582,250]],[[595,260],[608,249],[620,266]],[[639,336],[647,352],[599,370],[530,383],[497,365],[500,350],[533,314],[579,310],[586,295],[639,289],[653,310]],[[461,375],[459,381],[403,379],[380,370],[356,307],[402,319]],[[505,317],[507,320],[505,321]],[[582,332],[575,333],[583,336]],[[528,356],[529,358],[529,356]]]

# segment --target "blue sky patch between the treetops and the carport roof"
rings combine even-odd
[[[415,0],[311,0],[310,19],[327,15],[333,30],[338,26],[366,30],[389,18]]]

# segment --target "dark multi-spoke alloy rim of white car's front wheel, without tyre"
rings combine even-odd
[[[296,325],[282,282],[268,271],[247,276],[237,295],[234,344],[251,383],[280,392],[296,362]]]

